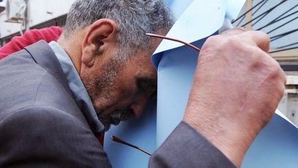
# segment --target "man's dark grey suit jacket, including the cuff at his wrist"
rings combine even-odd
[[[110,167],[45,41],[0,61],[0,167]],[[234,167],[181,122],[149,167]]]

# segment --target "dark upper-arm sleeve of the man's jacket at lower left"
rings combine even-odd
[[[111,167],[88,127],[44,106],[10,113],[0,122],[0,167]]]

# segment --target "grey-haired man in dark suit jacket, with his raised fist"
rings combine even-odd
[[[150,55],[160,42],[145,33],[164,35],[171,24],[162,1],[79,0],[58,43],[3,59],[1,167],[110,167],[95,135],[141,115],[156,90]],[[262,32],[210,37],[183,121],[149,167],[239,167],[284,93],[268,50]]]

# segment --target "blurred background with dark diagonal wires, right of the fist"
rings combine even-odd
[[[278,109],[298,125],[298,1],[247,0],[232,24],[270,36],[270,55],[279,62],[288,80]]]

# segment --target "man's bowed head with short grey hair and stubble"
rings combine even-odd
[[[163,0],[78,0],[63,30],[66,49],[105,129],[139,116],[157,86],[150,55],[172,17]]]

